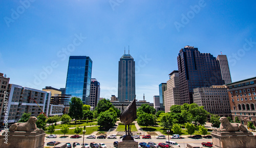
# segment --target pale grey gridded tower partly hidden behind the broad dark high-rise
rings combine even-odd
[[[232,83],[230,70],[228,66],[227,56],[226,55],[218,55],[216,58],[221,66],[221,76],[222,80],[225,81],[225,84]]]

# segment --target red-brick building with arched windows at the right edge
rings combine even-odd
[[[256,77],[226,86],[233,120],[238,117],[241,124],[252,122],[256,126]]]

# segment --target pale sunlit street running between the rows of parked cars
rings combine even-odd
[[[84,136],[86,137],[86,136]],[[67,143],[67,142],[70,142],[71,144],[73,144],[73,142],[79,142],[79,143],[82,143],[82,140],[83,138],[70,138],[69,137],[66,137],[66,138],[45,138],[45,146],[47,142],[50,142],[50,141],[58,141],[58,142],[61,142],[61,143]],[[198,145],[201,145],[202,142],[212,142],[212,139],[205,139],[205,138],[202,138],[202,139],[191,139],[191,138],[184,138],[184,139],[169,139],[170,141],[175,141],[177,142],[178,144],[180,144],[180,147],[182,148],[185,148],[186,147],[186,144],[187,143],[195,143],[195,144],[198,144]],[[117,139],[87,139],[87,138],[84,138],[84,142],[85,143],[88,143],[90,145],[91,142],[103,142],[105,143],[105,145],[107,147],[114,147],[113,146],[113,142],[114,141],[121,141],[121,139],[119,138],[119,136],[117,137]],[[156,139],[156,138],[152,138],[152,139],[135,139],[135,141],[138,141],[138,142],[155,142],[156,144],[160,143],[160,142],[164,142],[165,141],[168,141],[168,138],[167,139]],[[203,147],[203,146],[202,146]]]

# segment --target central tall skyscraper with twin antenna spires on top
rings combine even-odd
[[[132,101],[135,97],[135,61],[125,54],[118,62],[118,101]]]

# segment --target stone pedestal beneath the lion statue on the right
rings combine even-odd
[[[254,148],[256,136],[251,132],[217,132],[212,131],[212,146],[214,148]]]

